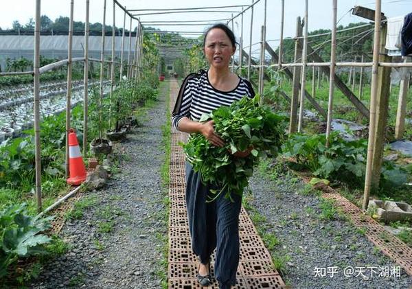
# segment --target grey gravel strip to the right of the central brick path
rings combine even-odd
[[[376,268],[371,276],[370,267],[398,265],[339,215],[330,221],[319,218],[319,198],[302,194],[305,185],[295,176],[283,172],[270,177],[268,170],[256,170],[250,186],[249,203],[266,218],[261,229],[280,241],[271,253],[290,257],[284,281],[292,288],[412,288],[412,277],[403,270],[400,277],[380,277]],[[328,267],[334,266],[332,276],[328,272],[334,269]],[[344,275],[347,266],[354,268],[349,277]],[[315,267],[325,268],[319,269],[326,271],[325,277],[315,277]],[[365,277],[356,267],[365,269]]]

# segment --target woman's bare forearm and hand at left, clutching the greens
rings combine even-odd
[[[177,123],[177,128],[182,132],[200,132],[214,146],[225,146],[225,142],[216,135],[213,124],[213,120],[209,120],[208,122],[195,122],[188,117],[182,117]]]

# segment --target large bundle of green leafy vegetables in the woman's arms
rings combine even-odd
[[[259,95],[253,100],[243,97],[231,106],[221,106],[210,114],[202,115],[201,122],[214,121],[216,134],[225,141],[222,148],[212,145],[200,133],[192,135],[183,145],[194,171],[201,173],[203,184],[218,187],[211,190],[214,196],[209,196],[209,201],[215,200],[222,192],[232,201],[232,194],[242,196],[260,157],[268,152],[276,156],[282,145],[284,117],[259,106],[259,98]],[[251,153],[247,157],[233,155],[248,149]]]

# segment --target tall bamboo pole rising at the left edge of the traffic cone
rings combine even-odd
[[[73,63],[71,62],[73,49],[73,6],[74,0],[70,1],[70,22],[69,22],[69,52],[67,56],[67,91],[66,91],[66,178],[69,176],[69,130],[71,119],[71,69]]]

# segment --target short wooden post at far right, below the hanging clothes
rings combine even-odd
[[[407,62],[408,58],[405,58],[404,62]],[[396,112],[396,127],[395,138],[400,140],[403,138],[404,126],[405,126],[405,114],[407,113],[407,95],[408,95],[408,82],[409,72],[407,68],[401,68],[401,79],[399,84],[399,99],[398,99],[398,111]]]

